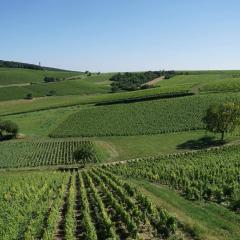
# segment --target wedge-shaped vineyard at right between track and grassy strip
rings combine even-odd
[[[240,211],[240,147],[149,157],[109,165],[124,177],[168,185],[187,199],[214,201]]]

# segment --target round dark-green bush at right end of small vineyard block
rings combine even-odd
[[[74,159],[79,163],[95,162],[96,151],[90,144],[82,144],[74,153]]]

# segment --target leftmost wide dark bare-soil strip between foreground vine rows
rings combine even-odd
[[[66,221],[69,189],[71,186],[71,182],[72,182],[72,176],[69,178],[65,196],[63,198],[63,205],[62,205],[62,208],[60,209],[61,214],[60,214],[60,220],[59,220],[56,235],[55,235],[56,240],[64,240],[65,239],[65,221]]]

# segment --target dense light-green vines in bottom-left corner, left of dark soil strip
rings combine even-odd
[[[60,173],[1,174],[1,239],[53,239],[67,179]]]

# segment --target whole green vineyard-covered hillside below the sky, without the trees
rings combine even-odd
[[[112,92],[117,73],[13,66],[0,67],[1,120],[19,126],[0,142],[4,239],[240,238],[239,129],[222,144],[202,122],[240,102],[240,71]]]

